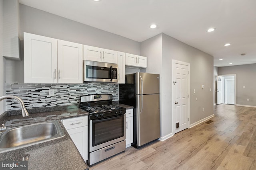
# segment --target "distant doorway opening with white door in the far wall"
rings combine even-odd
[[[217,77],[217,104],[236,105],[236,74]]]

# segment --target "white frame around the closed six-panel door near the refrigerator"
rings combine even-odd
[[[178,61],[178,60],[172,60],[172,134],[174,134],[174,129],[175,129],[175,122],[174,122],[174,86],[173,86],[173,78],[174,78],[174,64],[182,64],[185,66],[188,66],[188,129],[190,127],[190,63],[186,63],[183,61]]]

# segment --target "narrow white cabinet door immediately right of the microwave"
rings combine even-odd
[[[125,83],[125,53],[117,52],[118,84]]]

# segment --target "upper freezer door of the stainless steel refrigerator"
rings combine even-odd
[[[136,73],[136,94],[159,94],[159,74]]]

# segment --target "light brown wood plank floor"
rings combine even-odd
[[[256,108],[222,104],[214,115],[210,124],[129,147],[90,170],[256,170]]]

